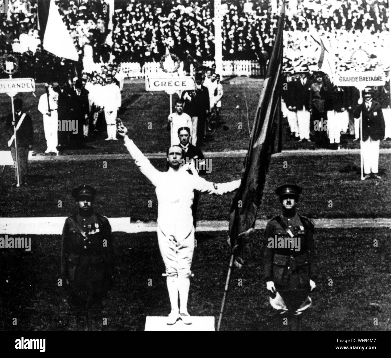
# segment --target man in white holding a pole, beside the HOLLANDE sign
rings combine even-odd
[[[58,153],[57,151],[57,114],[58,93],[53,90],[53,84],[47,86],[47,93],[39,97],[38,111],[43,114],[43,130],[45,131],[45,153]]]

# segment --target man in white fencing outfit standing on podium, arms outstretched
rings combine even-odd
[[[172,146],[167,151],[169,170],[161,172],[136,147],[126,135],[127,129],[121,125],[118,134],[124,137],[124,144],[135,160],[140,171],[156,187],[158,198],[158,243],[165,264],[167,289],[169,291],[171,313],[167,324],[174,324],[179,318],[185,324],[192,319],[187,311],[187,299],[192,276],[190,266],[194,251],[194,226],[192,203],[194,190],[208,194],[224,194],[239,188],[240,180],[214,184],[198,176],[194,165],[183,165],[183,149]],[[186,169],[190,169],[191,175]],[[178,308],[178,293],[180,308]]]

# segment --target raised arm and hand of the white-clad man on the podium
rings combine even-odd
[[[140,149],[137,148],[136,144],[133,143],[133,140],[129,139],[125,126],[119,126],[117,132],[121,137],[124,138],[124,145],[129,151],[129,154],[135,160],[136,166],[138,166],[141,173],[143,173],[143,175],[145,175],[149,180],[151,180],[153,185],[157,186],[161,175],[160,171],[158,171],[154,166],[152,166],[149,159],[145,157],[145,155],[143,155]]]

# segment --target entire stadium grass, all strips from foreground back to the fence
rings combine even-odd
[[[249,130],[258,102],[260,85],[257,79],[236,78],[224,85],[223,114],[230,130],[215,132],[215,140],[207,142],[203,151],[247,149]],[[37,86],[37,98],[24,94],[25,109],[32,114],[35,131],[34,149],[41,155],[45,139],[41,115],[36,106],[43,86]],[[247,123],[245,97],[249,108]],[[239,107],[238,107],[239,106]],[[142,81],[126,83],[123,112],[119,115],[130,126],[131,137],[144,152],[162,152],[169,144],[169,133],[163,130],[169,113],[169,96],[146,94]],[[4,117],[10,109],[9,97],[0,95]],[[152,129],[148,130],[148,122]],[[238,130],[238,123],[243,129]],[[1,123],[1,119],[0,119]],[[314,149],[313,143],[298,143],[287,137],[283,128],[283,149]],[[105,142],[100,133],[90,142],[90,149],[67,150],[65,154],[127,153],[121,141]],[[2,145],[4,148],[4,136]],[[358,148],[357,142],[345,143]],[[382,142],[390,148],[390,142]],[[61,154],[62,155],[62,154]],[[47,161],[29,164],[29,185],[11,187],[13,169],[7,167],[0,181],[0,217],[69,216],[76,211],[70,191],[80,183],[90,183],[98,190],[95,208],[108,217],[127,217],[132,221],[155,221],[157,200],[152,184],[140,173],[133,160]],[[164,159],[152,164],[165,170]],[[286,163],[284,163],[286,162]],[[212,158],[212,171],[206,179],[226,182],[240,178],[242,158]],[[284,166],[284,164],[287,164]],[[379,173],[383,179],[360,180],[360,157],[357,154],[333,156],[273,157],[266,179],[258,218],[269,219],[280,210],[274,194],[276,186],[294,182],[304,189],[300,213],[310,218],[391,218],[389,191],[390,155],[380,155]],[[234,194],[201,196],[198,218],[228,220]],[[59,207],[61,200],[61,207]],[[148,207],[152,200],[152,207]],[[13,233],[9,233],[12,235]],[[165,279],[161,277],[161,260],[155,233],[126,235],[115,233],[116,284],[106,308],[111,331],[142,331],[145,316],[169,313]],[[263,231],[256,235],[262,237]],[[312,298],[314,305],[306,313],[304,329],[314,331],[387,331],[391,329],[389,228],[383,229],[319,229],[319,277]],[[20,236],[25,236],[21,234]],[[192,315],[218,317],[229,250],[226,232],[196,233],[195,273],[190,288],[189,310]],[[378,247],[373,246],[378,239]],[[0,250],[0,297],[2,312],[0,330],[66,331],[78,327],[60,298],[59,236],[32,237],[31,252]],[[286,327],[274,319],[262,281],[262,244],[255,240],[246,249],[246,266],[235,270],[226,306],[223,329],[227,331],[280,331]],[[152,279],[152,286],[148,286]],[[238,280],[243,286],[238,286]],[[333,285],[329,286],[329,280]],[[18,319],[17,326],[11,324]],[[378,318],[378,325],[373,324]]]

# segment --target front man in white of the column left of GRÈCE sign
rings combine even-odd
[[[111,76],[107,79],[108,84],[103,87],[104,96],[102,97],[104,106],[104,118],[107,124],[107,138],[105,140],[117,140],[117,128],[115,121],[117,113],[121,106],[121,91],[120,88],[113,82]]]

